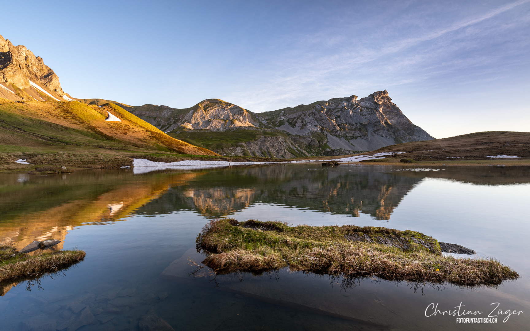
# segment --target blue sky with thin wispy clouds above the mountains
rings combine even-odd
[[[388,90],[436,138],[530,131],[530,0],[25,1],[0,34],[74,97],[255,112]]]

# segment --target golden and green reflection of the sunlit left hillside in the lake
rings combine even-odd
[[[84,172],[81,176],[3,176],[0,193],[0,240],[22,248],[33,240],[59,239],[76,226],[116,221],[163,194],[169,186],[193,180],[200,173],[151,175]],[[59,180],[60,178],[60,180]],[[13,186],[23,182],[25,185]],[[7,198],[9,197],[9,198]]]

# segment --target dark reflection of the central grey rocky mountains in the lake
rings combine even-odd
[[[138,211],[166,213],[182,208],[206,217],[222,217],[257,202],[278,203],[336,214],[359,212],[388,220],[394,208],[421,178],[395,173],[352,171],[301,171],[293,167],[239,168],[227,182],[225,171],[212,171],[187,185],[172,187]]]

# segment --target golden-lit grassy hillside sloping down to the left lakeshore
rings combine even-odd
[[[105,121],[107,112],[121,121]],[[112,103],[98,107],[76,101],[0,99],[0,129],[3,168],[19,167],[14,163],[18,158],[34,164],[99,167],[130,164],[136,155],[217,156],[167,136]]]

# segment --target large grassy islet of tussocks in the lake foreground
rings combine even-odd
[[[383,227],[290,227],[284,222],[218,219],[197,236],[197,249],[209,253],[202,263],[218,274],[260,274],[288,266],[293,271],[347,278],[377,276],[468,286],[519,278],[494,259],[443,256],[434,238]]]

